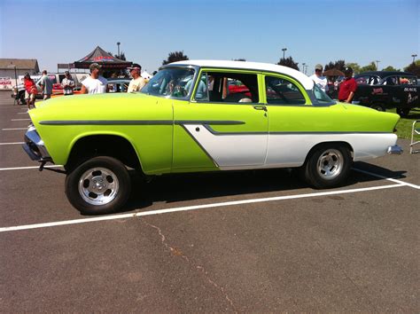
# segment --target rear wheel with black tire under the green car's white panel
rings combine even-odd
[[[317,189],[337,186],[348,177],[352,163],[352,155],[346,145],[318,145],[307,158],[304,177],[307,184]]]

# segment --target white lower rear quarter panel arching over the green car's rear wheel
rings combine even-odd
[[[266,165],[299,167],[307,153],[323,142],[346,142],[354,149],[354,161],[377,158],[395,145],[395,134],[270,134]]]

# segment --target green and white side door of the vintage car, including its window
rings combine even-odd
[[[268,114],[261,105],[261,75],[202,69],[191,101],[174,102],[173,169],[253,169],[265,163]],[[246,92],[229,92],[229,80]],[[190,83],[185,84],[189,91]]]

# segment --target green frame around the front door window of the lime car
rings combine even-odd
[[[198,90],[198,84],[199,84],[199,80],[201,79],[201,76],[206,73],[207,78],[208,78],[208,73],[209,72],[217,72],[217,73],[233,73],[233,74],[244,74],[244,75],[256,75],[257,78],[257,90],[258,90],[258,102],[230,102],[230,101],[210,101],[210,100],[201,100],[201,99],[196,99],[196,92]],[[207,82],[208,83],[208,82]],[[208,90],[207,90],[208,93]],[[198,75],[197,75],[197,80],[194,82],[194,88],[192,89],[192,93],[191,93],[191,103],[195,103],[195,104],[214,104],[214,105],[245,105],[245,106],[256,106],[256,105],[261,105],[261,71],[255,71],[255,70],[248,70],[248,69],[234,69],[234,68],[223,68],[223,67],[201,67],[199,69]]]

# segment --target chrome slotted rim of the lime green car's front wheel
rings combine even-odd
[[[92,205],[109,203],[115,199],[119,188],[118,178],[110,169],[89,169],[79,180],[79,193],[82,199]]]

